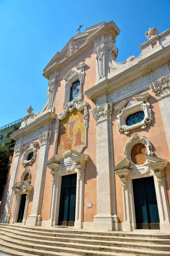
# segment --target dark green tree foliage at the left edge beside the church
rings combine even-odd
[[[10,155],[11,153],[9,147],[0,147],[0,196],[3,195],[3,189],[6,184]]]

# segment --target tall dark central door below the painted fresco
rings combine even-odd
[[[74,226],[77,173],[62,176],[59,204],[59,225]]]

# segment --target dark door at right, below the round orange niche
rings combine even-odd
[[[159,229],[159,213],[152,177],[133,180],[137,229]]]

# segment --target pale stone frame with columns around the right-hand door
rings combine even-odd
[[[127,158],[125,158],[127,159]],[[130,161],[130,160],[129,160]],[[130,163],[129,163],[130,164]],[[115,173],[119,175],[122,182],[122,194],[123,194],[123,211],[124,211],[124,223],[120,223],[119,230],[134,231],[136,230],[136,216],[135,216],[135,204],[133,196],[133,183],[132,180],[142,177],[153,176],[156,200],[158,204],[160,230],[161,232],[169,232],[170,230],[170,209],[168,205],[167,192],[164,182],[163,166],[152,166],[148,172],[137,177],[134,177],[130,168],[116,170]]]

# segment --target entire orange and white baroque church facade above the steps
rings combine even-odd
[[[170,230],[170,29],[116,62],[119,28],[73,36],[43,70],[47,102],[16,140],[1,222]]]

